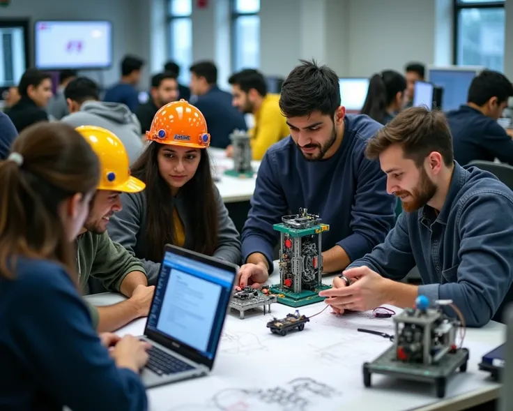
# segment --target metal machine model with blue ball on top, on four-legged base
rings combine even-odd
[[[388,374],[397,378],[434,382],[436,395],[445,396],[447,378],[459,368],[465,372],[468,350],[457,348],[457,329],[461,323],[447,317],[443,305],[459,310],[452,301],[437,301],[429,308],[429,300],[419,296],[416,308],[407,308],[394,317],[394,345],[371,363],[363,364],[363,382],[371,386],[371,374]]]

